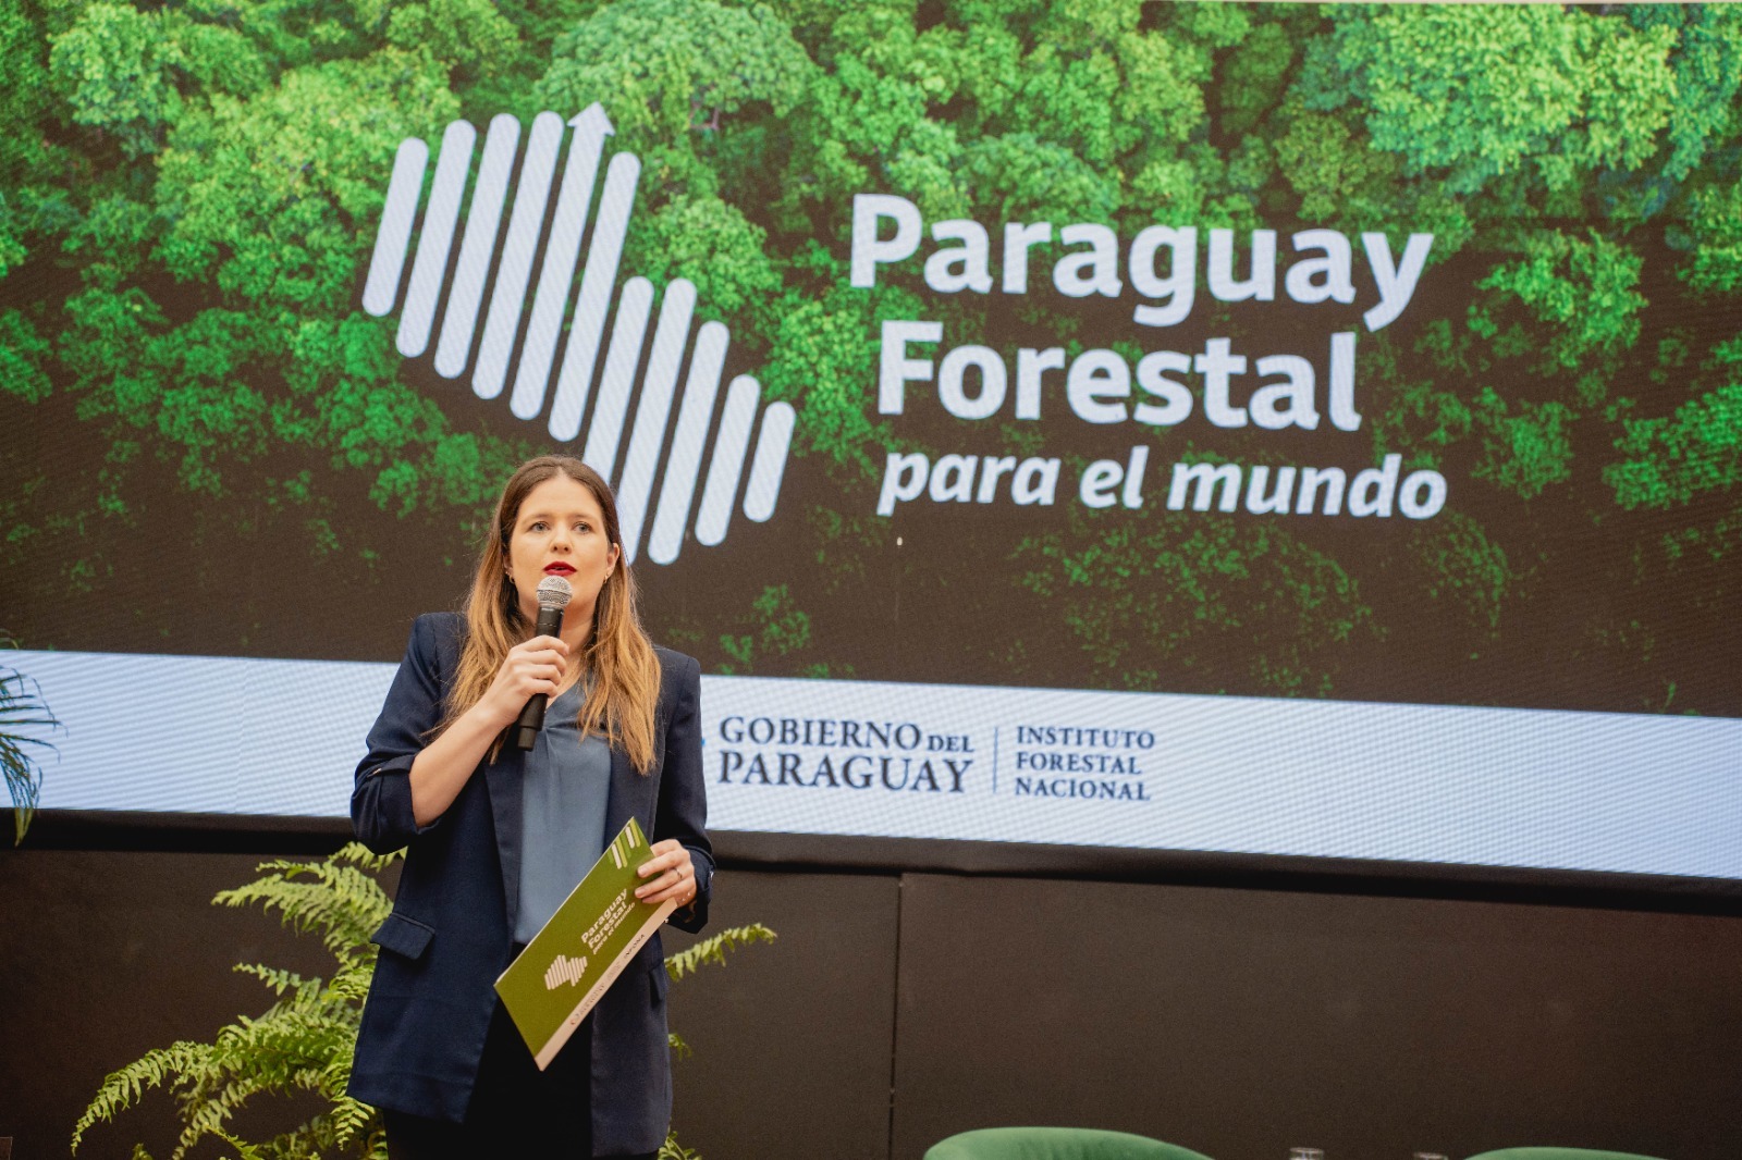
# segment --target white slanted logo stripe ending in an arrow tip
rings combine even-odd
[[[592,207],[592,181],[599,176],[604,136],[611,132],[611,122],[598,103],[571,117],[568,124],[575,127],[575,134],[568,146],[568,164],[563,165],[563,190],[556,195],[556,218],[550,221],[550,239],[545,242],[544,266],[538,270],[533,319],[526,324],[521,368],[514,376],[514,395],[509,399],[514,418],[535,418],[544,409],[556,340],[563,329],[568,293],[575,284],[580,233],[587,228],[587,211]]]

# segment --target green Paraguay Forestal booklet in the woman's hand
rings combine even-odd
[[[648,840],[641,824],[629,819],[544,930],[496,979],[496,995],[533,1049],[540,1071],[641,944],[678,909],[676,902],[653,906],[636,897],[645,881],[636,867],[646,860]]]

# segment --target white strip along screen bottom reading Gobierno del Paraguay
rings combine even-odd
[[[42,805],[345,815],[394,665],[19,651]],[[1742,878],[1742,719],[702,678],[718,829]]]

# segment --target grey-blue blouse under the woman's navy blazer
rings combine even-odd
[[[516,942],[531,942],[604,853],[611,751],[603,738],[584,738],[577,728],[584,686],[585,681],[577,681],[545,707],[544,728],[526,754]]]

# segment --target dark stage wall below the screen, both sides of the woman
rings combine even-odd
[[[17,1160],[64,1160],[108,1071],[263,1010],[232,963],[331,967],[272,918],[209,904],[260,857],[0,853]],[[671,989],[695,1052],[674,1064],[674,1127],[709,1160],[920,1160],[1036,1122],[1216,1160],[1730,1160],[1742,1137],[1733,914],[728,866],[714,918],[780,937]],[[258,1097],[237,1129],[310,1111]],[[78,1155],[164,1157],[174,1127],[148,1096]]]

